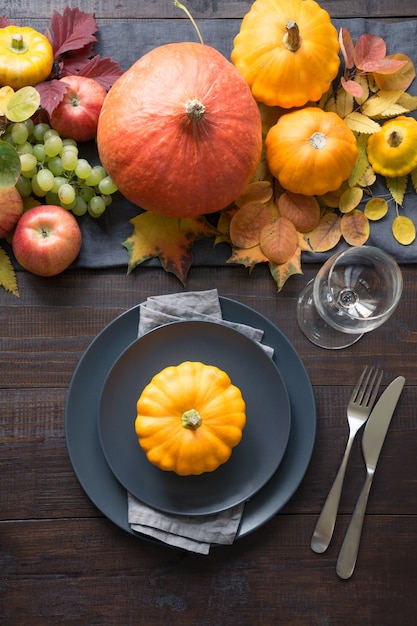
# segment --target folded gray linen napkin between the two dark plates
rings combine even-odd
[[[273,348],[261,343],[261,329],[223,320],[216,289],[148,298],[140,305],[138,336],[182,320],[207,320],[230,326],[259,342],[269,356],[273,355]],[[212,544],[232,544],[243,510],[244,503],[214,515],[172,515],[156,511],[128,494],[128,522],[132,530],[199,554],[208,554]]]

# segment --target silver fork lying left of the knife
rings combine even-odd
[[[368,366],[366,366],[350,397],[347,408],[349,437],[339,471],[329,491],[329,495],[324,503],[311,538],[311,549],[314,550],[314,552],[325,552],[333,536],[340,494],[342,492],[346,466],[352,444],[357,432],[365,424],[375,404],[382,374],[382,370],[379,371],[376,368],[368,368]]]

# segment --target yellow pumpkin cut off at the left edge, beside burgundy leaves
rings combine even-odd
[[[0,85],[17,90],[37,85],[51,73],[54,53],[48,39],[29,26],[0,28]]]

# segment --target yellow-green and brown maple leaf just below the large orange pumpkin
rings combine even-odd
[[[174,218],[144,211],[130,223],[133,235],[122,242],[129,256],[128,273],[140,263],[158,258],[164,270],[174,274],[184,286],[193,262],[194,242],[218,234],[204,217]]]

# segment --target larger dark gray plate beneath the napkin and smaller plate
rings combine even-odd
[[[239,302],[220,298],[223,317],[264,331],[264,343],[275,349],[276,363],[291,405],[290,436],[278,470],[245,504],[237,537],[265,524],[294,495],[309,465],[316,434],[313,390],[304,364],[285,335],[266,317]],[[67,396],[65,435],[75,474],[95,506],[128,533],[125,488],[111,471],[101,448],[97,412],[100,394],[116,359],[137,339],[139,306],[113,320],[80,359]]]

